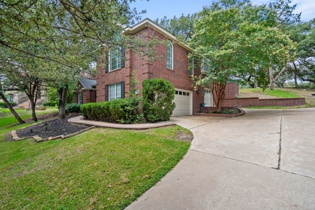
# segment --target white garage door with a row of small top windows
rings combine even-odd
[[[176,107],[173,111],[172,117],[191,115],[190,97],[192,97],[191,91],[187,90],[175,90],[174,102]]]

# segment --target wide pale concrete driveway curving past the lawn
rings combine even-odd
[[[171,121],[188,153],[126,210],[315,209],[315,108]]]

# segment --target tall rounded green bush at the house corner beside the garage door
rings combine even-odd
[[[169,120],[175,103],[175,89],[164,79],[147,79],[142,83],[142,113],[149,122]]]

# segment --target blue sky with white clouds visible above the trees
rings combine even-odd
[[[136,0],[130,4],[130,8],[137,11],[145,9],[146,14],[142,19],[149,18],[152,21],[163,18],[180,17],[195,12],[200,12],[203,6],[210,5],[213,0]],[[269,4],[271,0],[252,0],[253,4]],[[301,14],[301,21],[310,21],[315,18],[315,0],[291,0],[291,5],[296,4],[295,13]]]

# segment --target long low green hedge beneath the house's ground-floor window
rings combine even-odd
[[[139,99],[122,98],[113,101],[87,103],[81,105],[82,115],[89,120],[138,123],[141,120],[139,114]]]

